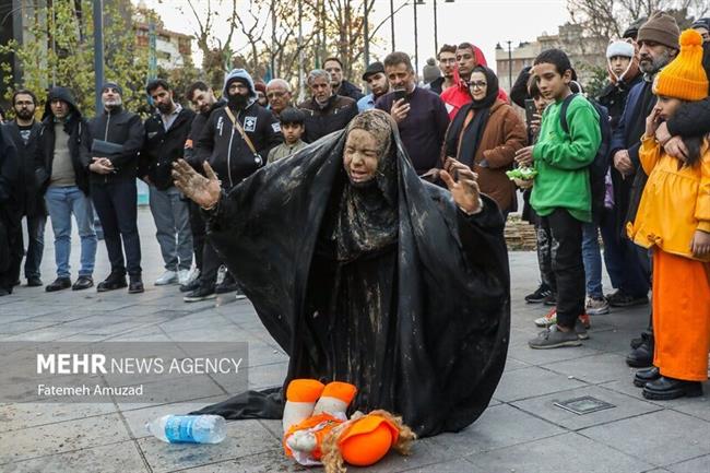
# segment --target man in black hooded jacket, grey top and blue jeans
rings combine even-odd
[[[51,229],[55,233],[57,279],[47,292],[71,287],[87,289],[94,285],[96,233],[94,208],[88,198],[88,165],[91,134],[74,96],[66,87],[49,91],[35,153],[35,177],[45,196]],[[81,238],[81,268],[71,284],[71,216],[76,218]]]

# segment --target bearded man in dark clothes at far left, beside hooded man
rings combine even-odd
[[[45,251],[45,226],[47,206],[35,182],[35,153],[37,152],[37,133],[39,123],[35,120],[37,97],[32,91],[19,90],[12,96],[15,119],[5,123],[8,134],[17,150],[22,165],[20,192],[23,198],[23,215],[27,222],[27,258],[25,259],[25,277],[27,286],[42,286],[39,265]]]

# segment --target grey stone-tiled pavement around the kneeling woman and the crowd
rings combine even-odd
[[[156,287],[162,272],[150,212],[139,212],[146,292],[97,294],[19,287],[0,298],[2,341],[221,341],[249,342],[251,388],[282,382],[287,358],[261,327],[248,301],[232,295],[185,304],[177,286]],[[51,228],[43,263],[45,283],[54,277]],[[78,268],[74,235],[72,268]],[[707,473],[710,472],[710,399],[649,402],[631,385],[624,363],[629,340],[647,323],[648,308],[615,310],[592,318],[591,339],[582,347],[533,351],[526,340],[532,320],[545,312],[525,305],[537,284],[535,256],[510,255],[512,274],[511,343],[506,373],[484,415],[462,433],[415,445],[409,458],[390,454],[375,472],[475,473]],[[108,273],[99,243],[96,281]],[[24,280],[23,280],[24,282]],[[705,385],[710,392],[710,386]],[[591,395],[614,405],[578,415],[556,401]],[[305,471],[281,451],[279,421],[228,424],[216,446],[166,445],[143,425],[167,413],[226,399],[163,405],[27,404],[0,405],[0,472],[286,472]],[[316,470],[318,471],[318,470]],[[363,471],[350,469],[350,471]]]

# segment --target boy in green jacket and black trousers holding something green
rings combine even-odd
[[[516,155],[521,167],[533,166],[535,176],[530,204],[553,237],[553,291],[557,293],[556,324],[529,342],[532,348],[578,346],[587,336],[580,317],[584,314],[584,265],[582,223],[592,221],[589,166],[602,142],[600,117],[584,97],[575,97],[567,108],[569,132],[560,122],[561,104],[572,92],[571,64],[559,49],[535,58],[533,74],[541,93],[554,100],[543,114],[539,141]],[[551,312],[549,319],[554,320]]]

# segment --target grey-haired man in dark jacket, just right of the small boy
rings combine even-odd
[[[301,102],[298,108],[306,114],[304,141],[312,143],[333,131],[345,128],[357,115],[357,103],[350,97],[335,94],[330,73],[322,69],[310,71],[307,83],[311,92],[310,100]]]

